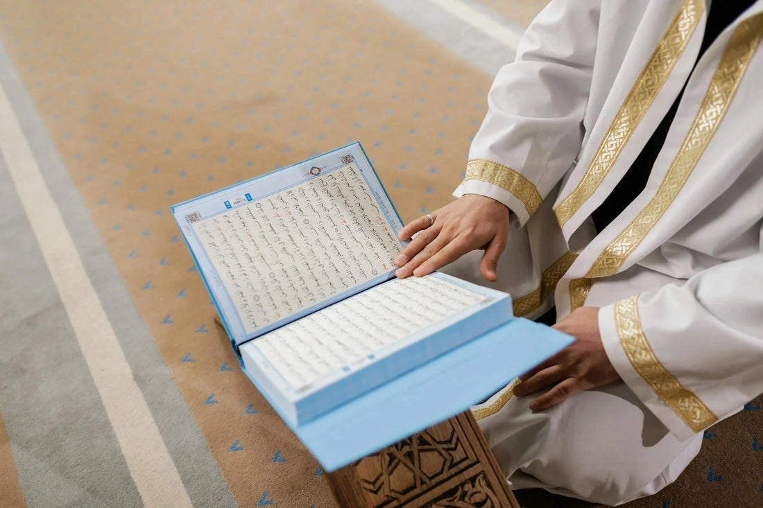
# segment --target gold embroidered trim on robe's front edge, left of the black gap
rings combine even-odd
[[[623,146],[626,146],[630,137],[633,136],[633,131],[652,106],[662,85],[665,85],[673,67],[684,53],[703,11],[702,0],[684,0],[681,4],[678,14],[671,21],[633,88],[628,92],[620,110],[615,114],[609,130],[601,140],[594,159],[591,160],[580,182],[554,208],[560,226],[564,227],[583,203],[591,198],[612,169]]]

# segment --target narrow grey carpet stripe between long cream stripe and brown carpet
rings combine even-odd
[[[192,503],[236,506],[204,436],[2,46],[0,80]],[[44,262],[40,266],[44,268]],[[55,288],[50,287],[55,294]]]

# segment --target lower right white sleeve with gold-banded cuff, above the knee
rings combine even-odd
[[[687,439],[763,393],[763,253],[599,311],[615,369]]]

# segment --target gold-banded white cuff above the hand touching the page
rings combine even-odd
[[[478,194],[505,204],[517,217],[519,227],[535,214],[542,198],[533,182],[516,169],[488,159],[472,159],[466,165],[464,181],[453,195]]]

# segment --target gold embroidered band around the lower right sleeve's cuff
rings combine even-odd
[[[685,388],[668,372],[655,355],[649,340],[646,339],[639,318],[639,295],[615,304],[615,326],[630,365],[639,376],[652,387],[671,410],[694,432],[700,432],[718,417],[691,390]]]

